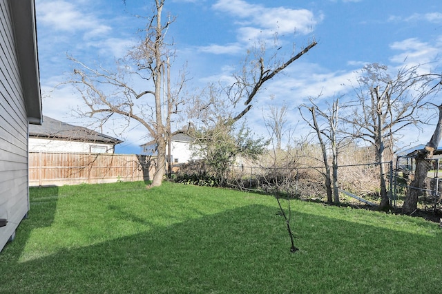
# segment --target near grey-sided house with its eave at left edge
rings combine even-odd
[[[33,0],[0,0],[0,251],[29,211],[28,124],[41,123]]]

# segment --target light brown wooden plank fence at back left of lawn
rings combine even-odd
[[[144,155],[29,153],[30,186],[149,180],[154,169]]]

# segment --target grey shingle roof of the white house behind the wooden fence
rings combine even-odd
[[[95,132],[86,127],[69,125],[48,116],[43,116],[43,123],[41,125],[29,125],[29,137],[108,143],[113,145],[122,143],[122,140],[117,138]]]

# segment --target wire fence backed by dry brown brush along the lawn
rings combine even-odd
[[[382,162],[384,165],[383,178],[387,183],[387,193],[394,201],[394,173],[392,162]],[[375,204],[381,202],[381,174],[379,162],[338,166],[339,188],[347,193],[340,193],[344,202],[361,204],[362,198]],[[191,175],[195,176],[191,176]],[[324,166],[298,165],[296,162],[286,163],[285,166],[264,165],[232,165],[229,173],[223,175],[225,185],[236,189],[262,191],[265,193],[284,192],[287,196],[305,198],[316,201],[327,200],[325,185],[326,170]],[[193,165],[183,165],[177,173],[177,178],[193,181],[193,184],[210,185],[204,176],[213,176],[211,170],[196,162]],[[199,182],[198,182],[199,181]],[[351,194],[356,197],[348,196]]]

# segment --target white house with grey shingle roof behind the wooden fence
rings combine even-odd
[[[29,126],[30,152],[113,154],[121,140],[43,116],[41,125]]]

